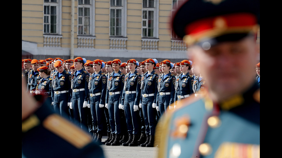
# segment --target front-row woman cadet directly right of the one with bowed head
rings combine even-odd
[[[87,108],[89,74],[82,69],[84,62],[86,63],[86,60],[83,60],[81,57],[73,59],[76,71],[72,75],[71,80],[73,92],[70,108],[73,109],[73,117],[80,122],[81,128],[83,126],[88,127],[87,112],[83,108]]]

